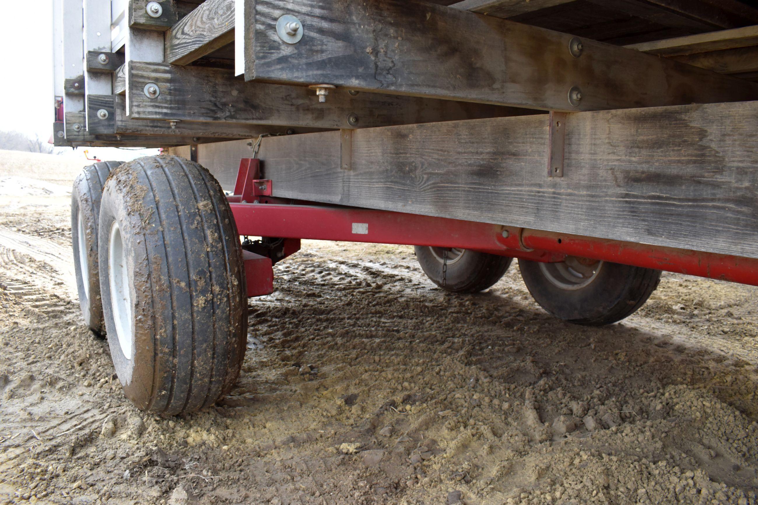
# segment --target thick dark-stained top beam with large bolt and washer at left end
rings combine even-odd
[[[554,111],[758,98],[758,86],[639,51],[412,0],[246,0],[248,80]],[[283,13],[305,33],[277,36]],[[575,47],[572,54],[572,45]],[[580,99],[581,97],[581,99]]]

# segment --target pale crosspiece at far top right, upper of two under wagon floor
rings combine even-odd
[[[681,56],[694,53],[721,51],[758,45],[758,26],[744,26],[733,30],[700,33],[675,39],[642,42],[627,45],[627,48],[647,52],[650,55]]]

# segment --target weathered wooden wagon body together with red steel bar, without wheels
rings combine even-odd
[[[245,235],[758,285],[758,8],[443,3],[56,0],[55,144],[199,161]]]

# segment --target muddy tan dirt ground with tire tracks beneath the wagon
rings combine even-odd
[[[0,503],[758,503],[756,288],[666,274],[589,329],[516,265],[448,295],[412,248],[305,242],[230,396],[162,419],[80,320],[76,170],[0,154]]]

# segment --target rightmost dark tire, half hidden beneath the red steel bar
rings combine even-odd
[[[661,272],[569,257],[563,263],[518,260],[534,300],[559,319],[604,326],[631,316],[658,287]]]

